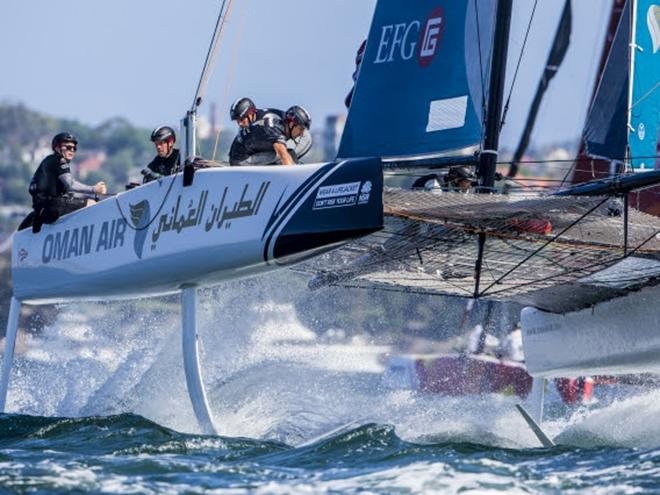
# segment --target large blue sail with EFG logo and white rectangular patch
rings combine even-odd
[[[494,0],[379,0],[338,156],[478,144],[494,12]]]

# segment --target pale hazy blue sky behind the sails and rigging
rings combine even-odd
[[[152,128],[178,127],[190,108],[221,0],[3,3],[0,102],[87,124],[121,116]],[[208,115],[214,102],[226,122],[231,102],[250,96],[261,107],[301,104],[319,129],[326,115],[345,111],[355,51],[375,3],[235,0],[200,114]],[[541,109],[533,144],[579,137],[610,4],[573,0],[571,49]],[[514,0],[507,93],[533,5]],[[515,147],[562,6],[538,1],[504,146]]]

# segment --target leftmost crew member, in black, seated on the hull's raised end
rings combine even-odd
[[[22,227],[32,223],[38,232],[44,223],[53,223],[60,216],[96,203],[99,194],[105,194],[104,182],[93,186],[73,178],[69,164],[78,149],[78,140],[69,132],[57,134],[51,143],[53,154],[39,165],[30,181],[32,218],[26,218]]]

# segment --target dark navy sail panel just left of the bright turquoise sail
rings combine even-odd
[[[623,162],[628,144],[630,0],[619,26],[584,128],[587,154]]]

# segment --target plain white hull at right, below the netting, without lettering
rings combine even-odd
[[[521,315],[527,369],[536,377],[660,372],[660,287],[555,314]]]

